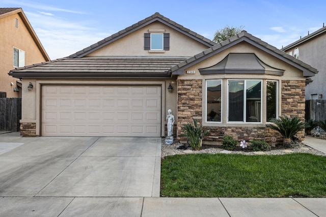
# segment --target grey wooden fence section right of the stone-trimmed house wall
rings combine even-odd
[[[326,119],[326,100],[306,100],[306,120]]]

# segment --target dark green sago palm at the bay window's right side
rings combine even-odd
[[[283,137],[283,146],[291,147],[291,138],[295,136],[298,131],[305,128],[305,124],[297,117],[289,118],[286,115],[280,116],[278,119],[271,119],[266,127],[276,130]]]

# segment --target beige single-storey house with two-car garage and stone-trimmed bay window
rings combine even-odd
[[[158,13],[69,57],[10,71],[23,78],[22,135],[160,137],[172,109],[178,138],[196,118],[210,130],[206,143],[270,141],[270,118],[304,120],[315,73],[247,32],[215,44]]]

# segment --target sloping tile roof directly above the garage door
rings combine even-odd
[[[169,70],[188,57],[84,57],[62,58],[9,72],[22,77],[170,77]]]

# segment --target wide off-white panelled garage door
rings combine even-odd
[[[42,136],[160,136],[160,86],[43,85]]]

